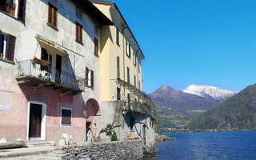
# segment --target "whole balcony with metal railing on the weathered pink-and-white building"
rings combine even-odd
[[[62,93],[78,94],[84,91],[85,79],[54,67],[35,63],[34,60],[18,62],[18,84],[33,82],[34,87],[53,87]]]

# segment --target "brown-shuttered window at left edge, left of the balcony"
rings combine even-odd
[[[0,31],[1,33],[1,31]],[[14,61],[16,38],[10,34],[0,34],[0,58]]]

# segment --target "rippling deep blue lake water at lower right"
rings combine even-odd
[[[176,140],[158,143],[156,157],[146,159],[256,159],[256,130],[167,135]]]

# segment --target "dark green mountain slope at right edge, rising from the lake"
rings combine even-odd
[[[190,129],[254,129],[256,128],[256,84],[226,99],[198,116]]]

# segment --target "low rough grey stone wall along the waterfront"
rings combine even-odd
[[[88,143],[58,150],[64,159],[142,159],[142,140]]]

